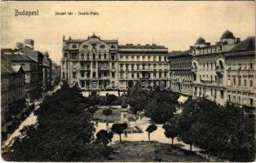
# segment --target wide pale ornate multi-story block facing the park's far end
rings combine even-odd
[[[93,36],[75,40],[63,39],[61,78],[69,86],[78,84],[91,89],[116,87],[123,81],[147,78],[149,84],[162,80],[167,84],[168,49],[165,46],[118,45],[117,40],[101,40]],[[154,77],[154,78],[153,78]]]

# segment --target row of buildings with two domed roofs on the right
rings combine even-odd
[[[214,45],[199,37],[188,51],[171,52],[169,60],[174,91],[256,107],[255,37],[241,41],[227,30]]]

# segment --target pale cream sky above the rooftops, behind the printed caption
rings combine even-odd
[[[35,16],[15,16],[19,11],[39,11]],[[55,15],[72,11],[73,15]],[[74,15],[93,11],[99,15]],[[255,36],[254,2],[1,2],[1,48],[33,39],[34,48],[48,51],[60,64],[62,38],[86,39],[95,33],[119,44],[166,46],[185,51],[198,37],[218,42],[227,29],[241,40]]]

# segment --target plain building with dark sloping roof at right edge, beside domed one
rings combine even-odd
[[[227,101],[256,107],[255,37],[234,46],[226,56]]]

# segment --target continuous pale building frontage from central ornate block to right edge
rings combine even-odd
[[[226,31],[214,45],[202,37],[188,51],[169,52],[156,44],[119,45],[93,34],[63,37],[61,78],[84,90],[116,88],[147,79],[192,97],[218,104],[256,106],[255,37],[244,41]]]

